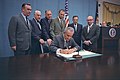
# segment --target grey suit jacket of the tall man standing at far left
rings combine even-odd
[[[13,16],[8,27],[10,46],[16,46],[16,50],[28,50],[31,46],[31,28],[22,14]]]

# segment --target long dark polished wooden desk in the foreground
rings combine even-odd
[[[63,62],[52,54],[0,58],[0,80],[120,80],[119,55]]]

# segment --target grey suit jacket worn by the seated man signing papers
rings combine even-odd
[[[50,45],[51,52],[56,53],[57,49],[59,49],[59,48],[64,49],[66,47],[68,47],[68,48],[74,48],[74,47],[76,47],[77,50],[80,50],[80,47],[77,45],[77,43],[74,41],[73,38],[71,38],[67,42],[68,43],[67,46],[64,43],[65,43],[65,41],[64,41],[63,34],[56,35],[53,38],[52,44]]]

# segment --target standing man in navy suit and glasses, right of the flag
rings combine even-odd
[[[68,27],[74,28],[73,39],[81,47],[81,35],[82,35],[82,25],[78,23],[78,16],[73,16],[73,23],[69,24]]]

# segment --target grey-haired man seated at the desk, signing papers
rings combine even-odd
[[[51,52],[56,53],[57,51],[64,54],[70,54],[80,50],[80,47],[72,38],[73,34],[74,29],[72,27],[67,27],[63,34],[56,35],[50,45]]]

